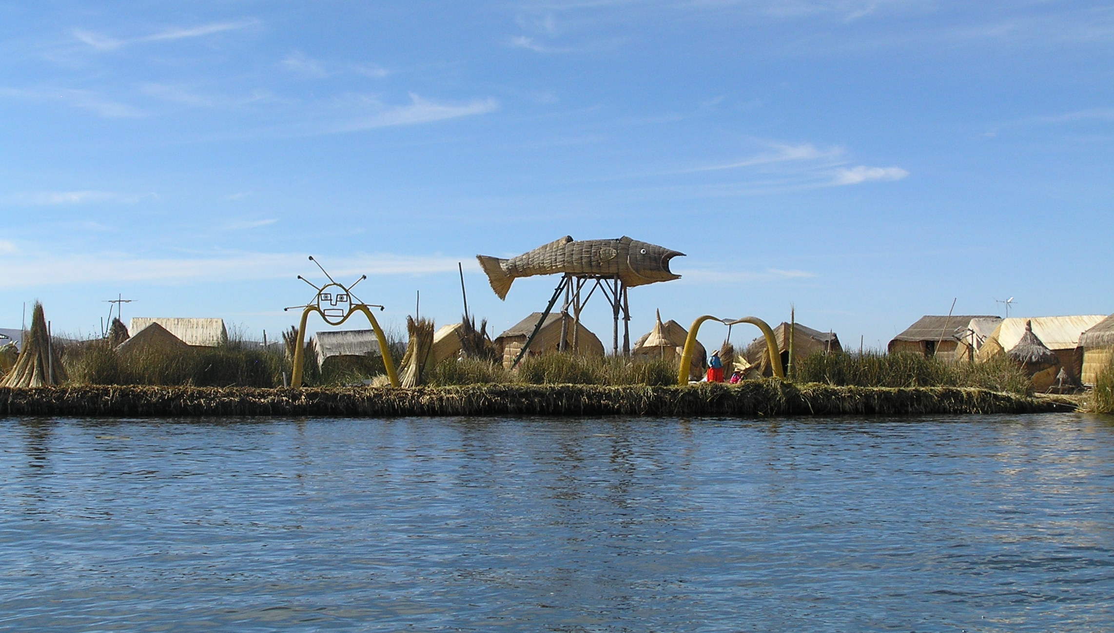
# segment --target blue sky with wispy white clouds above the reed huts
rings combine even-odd
[[[556,280],[500,302],[473,255],[566,234],[687,253],[634,334],[1105,314],[1112,58],[1097,1],[3,3],[0,325],[275,332],[313,254],[397,328],[459,318],[462,261],[498,332]]]

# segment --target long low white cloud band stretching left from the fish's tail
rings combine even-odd
[[[123,253],[37,253],[3,257],[0,289],[90,282],[182,284],[222,281],[314,279],[316,267],[305,255],[292,253],[222,253],[201,257],[133,257]],[[471,257],[368,254],[322,262],[336,276],[416,275],[455,272],[457,262],[478,269]]]

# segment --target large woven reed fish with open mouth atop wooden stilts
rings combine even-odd
[[[579,242],[566,235],[509,260],[489,255],[476,255],[476,259],[487,273],[491,290],[499,299],[506,299],[510,284],[524,276],[569,273],[618,277],[628,286],[681,279],[670,272],[670,260],[678,255],[684,256],[684,253],[625,235],[618,240]]]

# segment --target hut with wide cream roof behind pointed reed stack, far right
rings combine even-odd
[[[1083,348],[1079,347],[1079,339],[1083,332],[1094,328],[1104,319],[1106,319],[1104,314],[1003,319],[975,354],[975,361],[985,362],[1014,349],[1025,335],[1028,323],[1033,335],[1055,352],[1059,358],[1059,364],[1072,377],[1072,381],[1078,382],[1083,371]]]

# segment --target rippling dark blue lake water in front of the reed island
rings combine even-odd
[[[0,419],[3,631],[1112,631],[1114,418]]]

